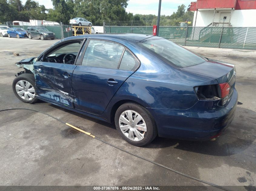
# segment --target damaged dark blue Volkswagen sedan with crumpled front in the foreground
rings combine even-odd
[[[215,139],[238,101],[234,65],[150,35],[69,37],[17,65],[25,68],[13,81],[20,100],[40,99],[115,123],[136,146],[157,135]]]

